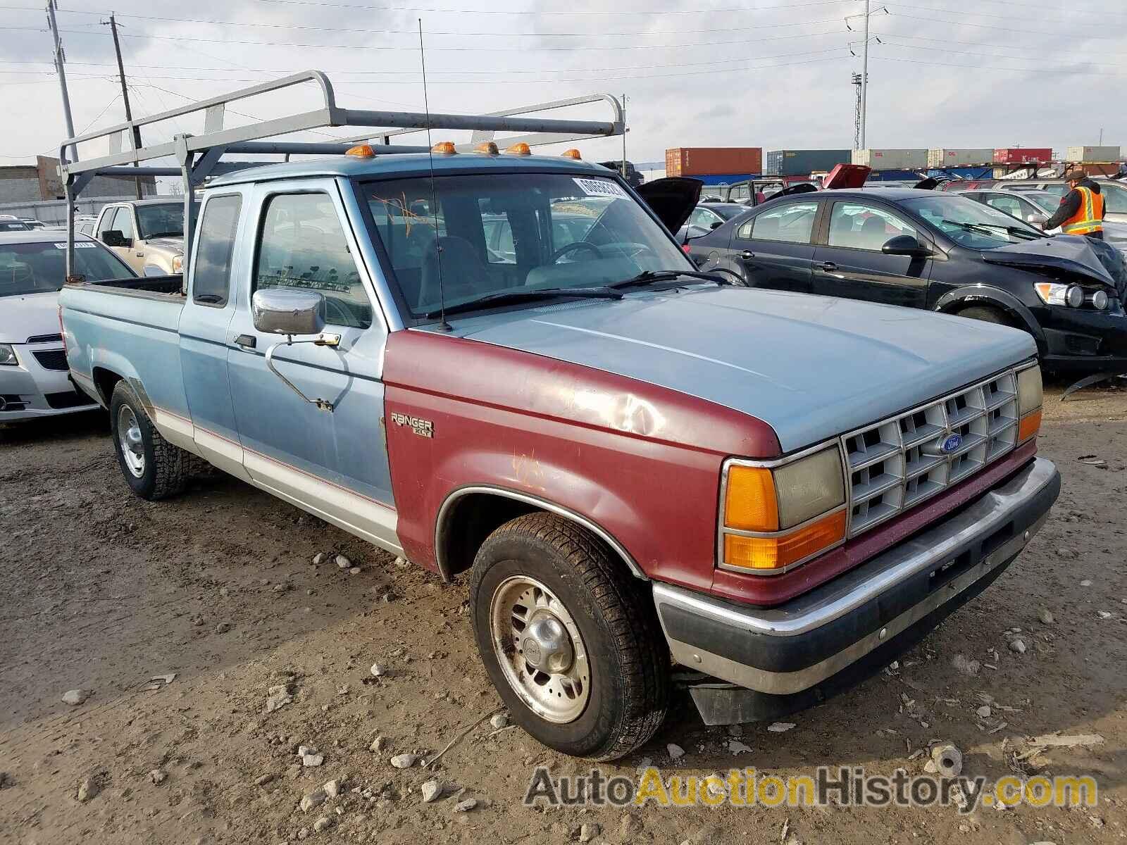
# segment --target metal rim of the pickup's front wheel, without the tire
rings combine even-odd
[[[579,628],[535,578],[506,578],[489,603],[494,653],[505,679],[533,713],[574,722],[591,697],[591,668]]]

